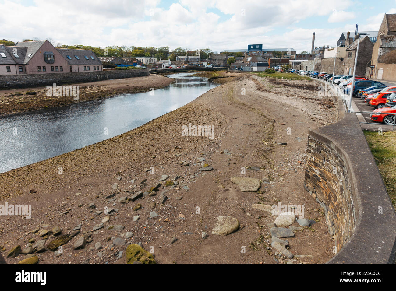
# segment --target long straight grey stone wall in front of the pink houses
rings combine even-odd
[[[147,69],[10,75],[0,76],[0,89],[24,88],[32,86],[52,86],[53,83],[72,84],[148,75],[149,72]]]

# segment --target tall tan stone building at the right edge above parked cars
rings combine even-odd
[[[387,60],[396,50],[396,14],[386,14],[378,30],[367,76],[380,80],[396,80],[396,64]]]

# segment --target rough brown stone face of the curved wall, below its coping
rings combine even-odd
[[[356,225],[348,171],[337,151],[312,135],[308,135],[307,153],[305,188],[323,207],[338,252],[352,236]]]

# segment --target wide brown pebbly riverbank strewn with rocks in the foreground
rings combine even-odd
[[[44,237],[40,263],[125,263],[126,246],[138,242],[158,263],[328,261],[334,242],[303,182],[307,131],[335,121],[331,97],[318,97],[313,81],[233,78],[132,131],[0,174],[0,204],[32,205],[31,219],[2,218],[3,255]],[[213,139],[183,135],[189,124],[214,126]],[[259,179],[258,191],[241,192],[231,181],[235,176]],[[150,190],[139,198],[139,191]],[[311,220],[287,238],[292,259],[271,247],[267,224],[275,216],[253,207],[279,202],[304,205]],[[100,213],[111,208],[109,217]],[[212,234],[222,215],[238,219],[239,229]],[[53,226],[62,234],[80,232],[59,257],[48,250]],[[82,235],[89,242],[74,249]],[[25,255],[6,260],[21,259]]]

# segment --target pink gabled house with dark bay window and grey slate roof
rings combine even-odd
[[[68,72],[69,63],[48,40],[17,42],[6,48],[17,63],[18,75]]]

